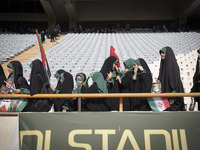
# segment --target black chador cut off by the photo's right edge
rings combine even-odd
[[[196,64],[196,71],[193,76],[193,87],[191,89],[191,92],[200,92],[200,49],[197,50],[198,52],[198,58],[197,58],[197,64]],[[198,110],[200,110],[200,97],[194,98],[196,102],[198,102]]]

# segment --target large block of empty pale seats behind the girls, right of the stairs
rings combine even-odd
[[[160,67],[159,50],[170,46],[177,58],[185,92],[192,86],[192,77],[196,67],[197,53],[200,48],[200,35],[196,32],[153,33],[153,32],[118,32],[118,33],[70,33],[46,51],[52,74],[58,69],[64,69],[75,76],[84,72],[87,76],[99,71],[104,60],[110,55],[110,46],[116,49],[121,69],[123,61],[128,58],[143,58],[149,64],[155,82]],[[193,51],[195,50],[195,51]],[[23,63],[25,77],[30,73],[29,64],[32,58]],[[55,87],[56,80],[51,77]]]

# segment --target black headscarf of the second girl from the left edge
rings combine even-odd
[[[9,68],[13,69],[13,74],[14,74],[14,84],[15,88],[19,89],[19,82],[18,80],[23,77],[23,68],[22,64],[19,61],[11,61],[8,65]],[[8,78],[11,77],[12,74],[9,74]]]

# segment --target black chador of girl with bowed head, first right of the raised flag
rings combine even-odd
[[[59,78],[56,87],[56,93],[59,94],[72,93],[74,82],[73,82],[73,76],[70,73],[64,70],[58,70],[55,74],[55,77]],[[62,111],[63,109],[67,111],[73,110],[73,102],[71,98],[56,99],[54,101],[55,111]]]

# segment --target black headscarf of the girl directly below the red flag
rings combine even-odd
[[[118,60],[114,56],[110,56],[105,60],[103,66],[102,66],[102,68],[100,70],[100,72],[103,74],[104,79],[107,78],[107,73],[110,73],[110,71],[112,71],[113,64],[116,61],[118,61]]]

